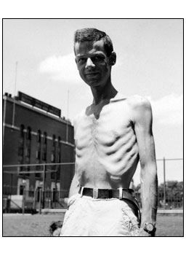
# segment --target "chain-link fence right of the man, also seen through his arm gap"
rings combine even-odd
[[[183,159],[157,159],[158,169],[158,208],[183,208]],[[134,174],[134,190],[141,205],[140,164]]]

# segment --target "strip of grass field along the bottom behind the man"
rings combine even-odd
[[[49,236],[50,223],[62,219],[62,214],[6,214],[3,236]],[[183,215],[158,215],[156,226],[156,236],[183,236]]]

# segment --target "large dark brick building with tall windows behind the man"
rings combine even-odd
[[[73,125],[60,117],[60,109],[24,93],[19,92],[15,98],[5,93],[3,194],[22,195],[24,188],[68,190],[74,165],[57,163],[73,162]]]

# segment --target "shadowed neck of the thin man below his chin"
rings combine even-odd
[[[94,87],[91,88],[92,90],[92,95],[93,95],[93,103],[94,104],[99,104],[100,101],[114,98],[118,91],[113,87],[111,82],[108,82],[107,85],[105,85],[103,88],[99,87]]]

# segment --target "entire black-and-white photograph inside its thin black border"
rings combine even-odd
[[[2,20],[4,237],[184,236],[183,25]]]

